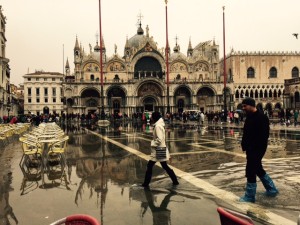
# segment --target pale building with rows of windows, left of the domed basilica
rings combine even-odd
[[[36,71],[24,76],[24,113],[63,113],[63,74]]]

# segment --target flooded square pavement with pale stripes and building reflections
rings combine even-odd
[[[271,129],[264,158],[280,194],[255,204],[239,203],[246,178],[240,148],[242,129],[234,126],[167,124],[170,165],[180,185],[172,186],[157,164],[150,190],[142,183],[152,127],[116,123],[106,128],[62,126],[69,135],[66,164],[49,161],[19,165],[15,138],[0,150],[0,225],[50,224],[71,214],[89,214],[103,225],[215,225],[217,207],[238,210],[255,224],[296,224],[300,211],[300,130]],[[298,128],[299,129],[299,128]]]

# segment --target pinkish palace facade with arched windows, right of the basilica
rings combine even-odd
[[[223,66],[223,65],[222,65]],[[299,77],[300,52],[235,52],[226,56],[229,80],[234,81],[234,107],[253,97],[263,109],[284,105],[284,80]]]

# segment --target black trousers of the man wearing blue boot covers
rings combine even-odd
[[[246,152],[246,177],[249,183],[256,183],[256,176],[263,177],[266,174],[261,162],[265,152],[266,150]]]

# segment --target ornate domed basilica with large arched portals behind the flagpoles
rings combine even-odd
[[[191,41],[187,54],[180,52],[176,42],[169,53],[170,107],[172,112],[185,109],[220,110],[223,105],[223,78],[219,71],[219,46],[215,41],[199,43],[194,48]],[[137,33],[126,39],[124,53],[116,49],[112,57],[106,56],[104,41],[103,80],[104,105],[110,113],[131,115],[144,110],[165,111],[167,105],[165,49],[159,49],[153,37],[146,34],[142,24]],[[115,47],[116,48],[116,47]],[[100,46],[85,52],[76,38],[74,47],[74,73],[66,62],[63,85],[66,97],[65,111],[87,113],[100,107]],[[232,84],[226,89],[232,95]],[[228,96],[228,106],[232,98]]]

